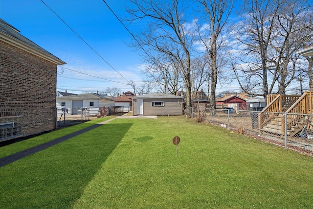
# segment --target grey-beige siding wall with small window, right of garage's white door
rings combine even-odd
[[[164,106],[152,106],[153,101],[164,101]],[[143,99],[143,115],[182,115],[179,103],[182,104],[182,99]]]

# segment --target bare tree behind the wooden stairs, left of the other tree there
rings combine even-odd
[[[279,0],[245,0],[240,11],[242,20],[232,29],[246,55],[239,58],[240,65],[233,64],[239,85],[246,93],[263,95],[265,99],[274,87],[277,74],[272,73],[268,87],[268,50],[279,8]],[[262,93],[258,93],[260,89]]]

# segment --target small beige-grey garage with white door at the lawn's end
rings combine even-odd
[[[133,115],[182,115],[183,97],[165,93],[150,93],[132,97]]]

